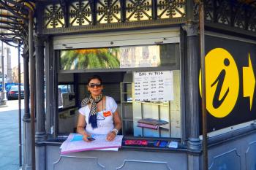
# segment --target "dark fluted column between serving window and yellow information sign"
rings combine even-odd
[[[200,151],[202,143],[199,138],[199,80],[198,69],[200,67],[200,52],[198,41],[198,24],[192,20],[188,20],[187,24],[183,26],[187,32],[187,70],[185,70],[186,77],[186,93],[187,97],[185,104],[187,105],[186,121],[187,121],[187,147],[189,150]],[[195,161],[191,161],[196,163]]]

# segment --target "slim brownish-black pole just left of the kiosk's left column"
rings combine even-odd
[[[31,158],[32,170],[35,170],[35,141],[34,141],[34,45],[33,45],[33,12],[29,10],[29,72],[30,72],[30,112],[31,112]]]

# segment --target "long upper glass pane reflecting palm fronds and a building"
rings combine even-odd
[[[176,44],[61,50],[61,70],[173,66]]]

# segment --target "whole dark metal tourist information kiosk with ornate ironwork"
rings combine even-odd
[[[17,35],[25,37],[23,169],[198,170],[203,150],[208,169],[255,169],[255,1],[203,1],[205,149],[197,1],[7,1],[1,9],[26,23]],[[61,154],[94,74],[118,103],[121,148]]]

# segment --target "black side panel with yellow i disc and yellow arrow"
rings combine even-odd
[[[256,120],[256,44],[206,35],[205,50],[207,131]]]

